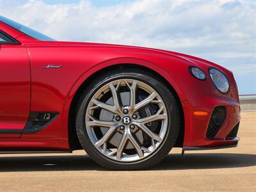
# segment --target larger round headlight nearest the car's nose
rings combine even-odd
[[[210,68],[209,74],[216,88],[221,93],[227,93],[229,90],[229,83],[227,77],[216,68]]]

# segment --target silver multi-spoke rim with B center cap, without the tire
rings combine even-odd
[[[139,161],[161,146],[168,129],[163,99],[151,86],[118,79],[100,87],[88,103],[86,132],[109,159]]]

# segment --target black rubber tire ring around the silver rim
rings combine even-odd
[[[97,92],[100,87],[104,86],[104,84],[116,79],[124,78],[136,79],[138,81],[147,83],[149,86],[154,88],[154,90],[156,90],[156,92],[163,99],[168,115],[168,129],[166,136],[161,143],[161,146],[159,146],[159,148],[157,148],[153,154],[146,157],[145,159],[129,163],[122,163],[113,159],[109,159],[100,153],[99,150],[94,147],[88,136],[88,133],[85,129],[86,125],[84,120],[86,108],[94,93]],[[175,141],[177,140],[179,134],[179,129],[180,111],[177,100],[173,96],[172,91],[170,88],[168,88],[168,85],[163,83],[157,76],[145,70],[139,70],[135,68],[117,68],[116,70],[102,74],[102,76],[97,77],[92,81],[92,83],[88,84],[88,87],[86,90],[84,90],[84,93],[81,96],[77,106],[76,131],[81,146],[96,163],[110,170],[143,170],[145,168],[154,166],[155,164],[162,161],[175,145]]]

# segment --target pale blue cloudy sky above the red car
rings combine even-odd
[[[0,0],[0,15],[57,40],[140,45],[211,60],[256,93],[256,1]]]

